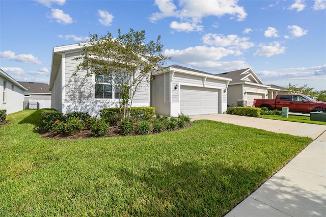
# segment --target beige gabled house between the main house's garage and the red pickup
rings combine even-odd
[[[216,75],[232,79],[228,87],[229,106],[253,106],[255,98],[274,99],[279,91],[278,88],[264,85],[251,68]]]

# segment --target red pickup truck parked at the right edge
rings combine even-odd
[[[279,94],[275,99],[254,99],[254,107],[266,107],[268,110],[282,110],[288,107],[289,112],[326,112],[326,102],[317,102],[300,94]]]

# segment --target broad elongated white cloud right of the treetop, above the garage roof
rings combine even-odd
[[[179,63],[198,63],[215,61],[229,55],[236,55],[236,51],[224,47],[196,46],[183,50],[166,49],[164,55],[172,57],[172,61]]]

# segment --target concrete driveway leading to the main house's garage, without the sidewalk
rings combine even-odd
[[[254,127],[273,131],[278,133],[286,133],[290,135],[300,135],[302,137],[310,137],[316,139],[326,130],[325,125],[306,124],[290,121],[269,120],[263,118],[253,118],[238,115],[214,114],[214,115],[193,115],[189,116],[192,120],[212,120],[224,123],[230,123],[240,126]]]

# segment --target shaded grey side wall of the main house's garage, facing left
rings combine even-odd
[[[166,95],[170,95],[169,92],[166,94],[166,85],[169,87],[169,83],[165,82],[166,74],[156,75],[152,81],[152,105],[155,107],[156,114],[170,116],[170,101],[166,101]],[[169,89],[168,89],[169,90]]]

